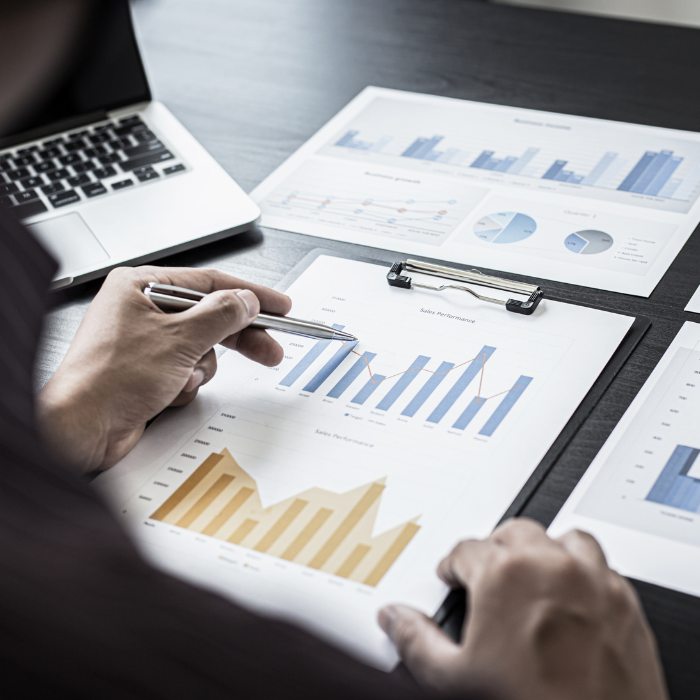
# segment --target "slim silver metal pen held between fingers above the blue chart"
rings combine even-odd
[[[195,292],[193,289],[175,287],[172,284],[159,284],[151,282],[143,293],[163,311],[184,311],[204,299],[206,294]],[[275,316],[274,314],[258,314],[250,324],[253,328],[264,328],[270,331],[282,331],[284,333],[294,333],[304,335],[309,338],[320,338],[324,340],[348,340],[356,341],[357,338],[345,331],[337,328],[324,326],[322,323],[312,323],[302,321],[298,318],[288,316]]]

